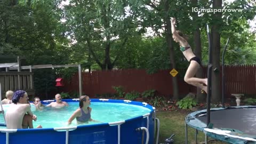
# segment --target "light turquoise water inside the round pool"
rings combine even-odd
[[[67,122],[69,117],[78,107],[78,102],[70,102],[69,107],[46,107],[42,111],[34,111],[34,114],[37,116],[37,121],[33,121],[33,125],[36,127],[40,124],[43,128],[68,126]],[[91,102],[90,107],[92,107],[91,118],[102,123],[123,121],[150,113],[150,109],[148,108],[125,103]],[[0,123],[3,122],[3,116],[0,115]],[[89,122],[88,124],[96,123],[97,122]],[[70,126],[75,125],[77,125],[76,119],[73,120]]]

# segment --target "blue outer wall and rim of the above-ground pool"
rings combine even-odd
[[[0,129],[0,143],[143,143],[146,142],[146,131],[138,131],[139,127],[146,127],[149,132],[149,142],[154,143],[155,108],[147,103],[125,100],[91,99],[92,102],[127,103],[150,109],[150,113],[125,121],[101,123],[92,125],[78,125],[74,127],[55,127],[43,129]],[[77,99],[63,100],[69,103],[78,102]],[[43,104],[52,101],[44,101]],[[67,130],[69,129],[69,130]],[[118,133],[119,131],[119,133]],[[143,134],[144,133],[144,134]],[[120,137],[118,137],[118,135]],[[144,135],[144,136],[143,136]],[[143,137],[143,138],[142,138]],[[7,141],[6,141],[7,140]]]

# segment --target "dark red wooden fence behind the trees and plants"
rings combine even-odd
[[[179,71],[179,70],[178,70]],[[203,67],[204,77],[207,67]],[[169,70],[160,70],[155,74],[147,74],[144,69],[123,69],[109,71],[92,71],[82,73],[83,93],[89,95],[115,93],[112,86],[124,86],[125,92],[157,90],[157,94],[170,97],[172,95],[172,76]],[[221,76],[221,69],[219,70]],[[196,87],[183,81],[183,76],[178,77],[179,93],[187,94],[196,92]],[[226,95],[231,93],[256,94],[256,65],[225,66]],[[220,83],[221,84],[221,83]],[[66,92],[78,91],[78,75],[65,82],[62,88]],[[221,85],[220,85],[221,89]]]

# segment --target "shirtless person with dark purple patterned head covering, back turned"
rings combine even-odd
[[[22,129],[22,120],[26,113],[36,121],[37,117],[27,103],[28,94],[25,91],[16,91],[12,97],[12,104],[6,111],[5,121],[7,129]]]

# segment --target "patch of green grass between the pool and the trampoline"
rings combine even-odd
[[[159,130],[159,143],[164,143],[166,138],[169,138],[172,133],[175,133],[173,137],[174,143],[185,143],[185,117],[191,113],[191,111],[156,111],[156,117],[160,121]],[[203,143],[205,135],[203,132],[198,132],[197,142]],[[188,143],[195,143],[195,129],[188,126]],[[212,141],[209,143],[223,144],[225,142]]]

